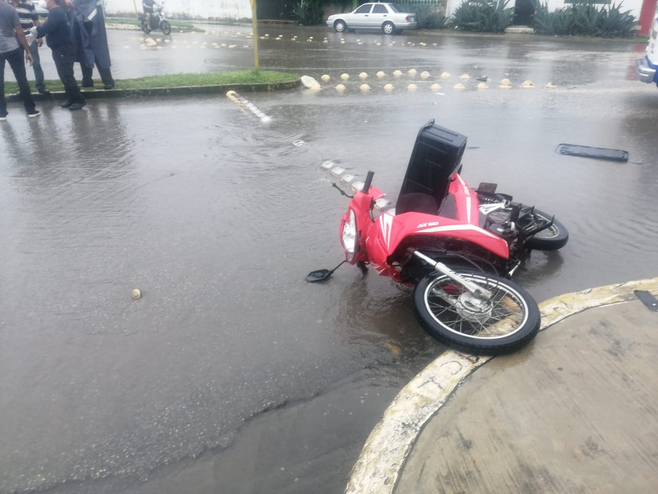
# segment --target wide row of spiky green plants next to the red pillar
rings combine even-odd
[[[621,3],[604,5],[599,10],[587,1],[549,12],[547,2],[535,0],[533,27],[538,34],[631,38],[638,22],[630,12],[622,12]]]

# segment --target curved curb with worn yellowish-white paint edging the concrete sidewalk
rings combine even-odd
[[[589,308],[635,300],[633,290],[658,294],[658,278],[590,288],[546,300],[539,305],[541,329]],[[491,358],[448,350],[420,371],[398,393],[372,429],[349,475],[345,493],[393,493],[407,455],[424,424],[468,374]]]

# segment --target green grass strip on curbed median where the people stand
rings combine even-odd
[[[115,79],[114,89],[154,89],[154,88],[180,88],[184,86],[222,86],[224,84],[273,84],[276,82],[290,82],[297,80],[297,74],[276,72],[273,70],[230,70],[222,72],[203,73],[180,73],[166,74],[161,76],[147,76],[136,79]],[[34,84],[30,81],[30,86]],[[45,86],[50,91],[64,91],[62,82],[57,79],[45,81]],[[97,81],[97,88],[103,85]],[[81,88],[84,91],[88,88]],[[34,90],[34,88],[33,88]],[[89,88],[91,90],[91,88]],[[5,94],[11,95],[18,92],[16,82],[5,82]]]

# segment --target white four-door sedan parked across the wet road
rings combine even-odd
[[[416,14],[403,11],[395,3],[372,2],[364,3],[349,13],[330,15],[327,26],[338,32],[381,29],[384,34],[393,34],[403,29],[415,29],[418,22]]]

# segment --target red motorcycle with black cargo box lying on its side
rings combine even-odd
[[[569,240],[554,217],[497,194],[472,190],[459,176],[467,138],[434,124],[415,142],[395,207],[385,194],[352,182],[340,225],[344,262],[413,285],[415,314],[442,343],[474,354],[502,354],[529,343],[540,327],[532,296],[509,280],[530,251],[557,250]],[[328,279],[320,269],[307,281]]]

